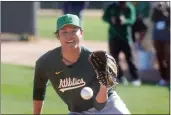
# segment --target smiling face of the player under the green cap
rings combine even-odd
[[[76,26],[66,25],[59,30],[57,37],[59,38],[62,47],[77,48],[80,44],[83,31]]]

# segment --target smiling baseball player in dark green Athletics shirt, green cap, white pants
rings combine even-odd
[[[106,82],[97,79],[89,61],[92,52],[80,43],[83,37],[80,19],[72,14],[59,17],[56,37],[61,46],[48,51],[36,61],[34,114],[41,114],[48,80],[67,104],[69,114],[129,114],[114,88],[108,89]],[[91,99],[84,100],[80,96],[83,87],[93,90]]]

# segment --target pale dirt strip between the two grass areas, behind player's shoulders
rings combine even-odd
[[[83,41],[91,50],[107,50],[107,44],[99,41]],[[1,42],[1,62],[34,66],[35,61],[48,50],[60,46],[57,40],[36,40],[30,42]]]

